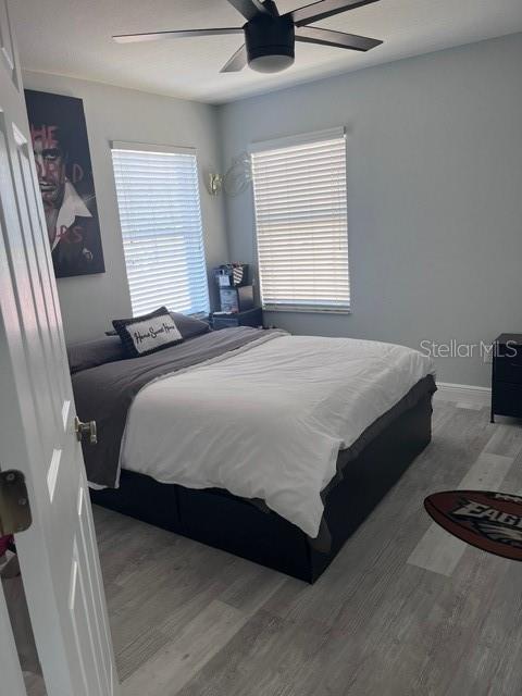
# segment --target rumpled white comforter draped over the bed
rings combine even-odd
[[[431,372],[427,358],[402,346],[276,335],[141,389],[121,464],[261,498],[315,537],[339,449]]]

